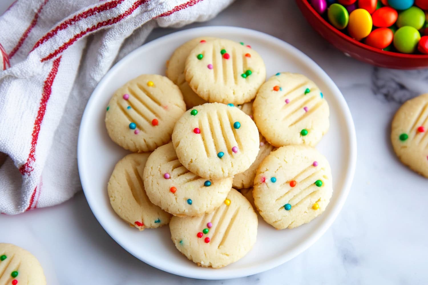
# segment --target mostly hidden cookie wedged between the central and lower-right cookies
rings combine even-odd
[[[233,188],[249,188],[253,186],[254,177],[256,177],[256,171],[260,163],[265,159],[266,156],[274,149],[274,147],[269,144],[265,138],[260,136],[260,150],[257,154],[256,160],[253,164],[242,173],[238,173],[233,177]]]

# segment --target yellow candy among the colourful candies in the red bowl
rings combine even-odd
[[[357,41],[365,38],[372,32],[372,16],[366,9],[355,9],[349,15],[348,32]]]

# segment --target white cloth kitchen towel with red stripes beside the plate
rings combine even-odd
[[[231,2],[16,1],[0,17],[11,65],[0,72],[0,212],[53,206],[79,191],[78,129],[102,76],[153,28],[206,21]]]

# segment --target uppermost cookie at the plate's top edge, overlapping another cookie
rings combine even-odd
[[[217,39],[190,51],[186,81],[208,102],[242,104],[253,100],[265,82],[263,59],[249,46]]]

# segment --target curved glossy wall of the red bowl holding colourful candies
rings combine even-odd
[[[319,15],[307,0],[296,0],[297,6],[306,20],[330,44],[333,44],[346,55],[362,62],[383,68],[420,69],[428,68],[428,55],[393,53],[370,47],[356,41],[336,29]]]

